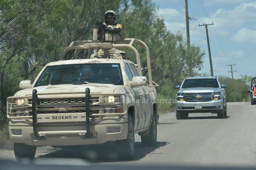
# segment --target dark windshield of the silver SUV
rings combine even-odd
[[[218,88],[218,82],[216,79],[186,79],[182,84],[182,88],[190,87],[214,87]]]

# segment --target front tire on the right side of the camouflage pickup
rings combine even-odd
[[[123,159],[133,159],[135,150],[135,140],[134,140],[134,129],[133,129],[133,119],[130,114],[128,114],[128,133],[127,138],[124,140],[118,140],[117,146],[121,158]]]

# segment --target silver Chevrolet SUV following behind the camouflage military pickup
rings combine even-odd
[[[186,77],[176,95],[176,118],[186,119],[189,113],[216,113],[227,117],[226,92],[218,77]]]

